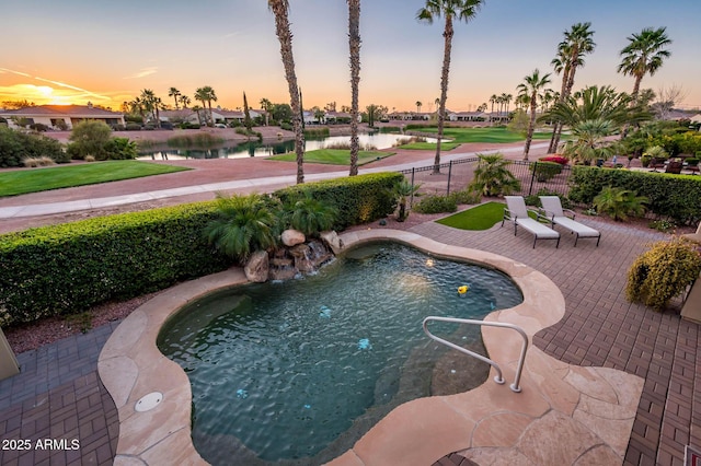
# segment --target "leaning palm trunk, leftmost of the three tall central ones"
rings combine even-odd
[[[304,133],[302,131],[301,104],[299,86],[295,73],[292,56],[292,33],[289,28],[288,0],[268,0],[267,7],[275,15],[275,32],[280,43],[280,56],[285,67],[285,78],[289,88],[290,106],[292,108],[292,126],[295,128],[295,153],[297,154],[297,183],[304,183]]]

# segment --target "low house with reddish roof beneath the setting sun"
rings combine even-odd
[[[8,120],[10,128],[19,128],[15,120],[28,125],[42,124],[51,129],[72,129],[80,121],[96,120],[115,127],[124,125],[124,115],[117,112],[88,105],[36,105],[16,110],[0,110],[0,117]]]

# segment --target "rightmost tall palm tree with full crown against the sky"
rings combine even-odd
[[[623,75],[632,75],[635,78],[633,84],[633,100],[637,100],[640,91],[640,82],[645,74],[654,75],[665,58],[669,58],[671,53],[665,47],[671,44],[671,39],[665,34],[666,28],[659,27],[653,30],[644,28],[640,34],[633,34],[628,37],[628,44],[622,50],[623,59],[618,66],[618,72]]]

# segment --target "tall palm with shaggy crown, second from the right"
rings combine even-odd
[[[564,40],[558,45],[558,57],[553,65],[555,73],[562,72],[562,86],[560,90],[560,102],[572,93],[574,86],[574,77],[578,67],[584,66],[584,56],[594,51],[596,43],[593,39],[594,31],[590,30],[591,23],[576,23],[564,32]],[[553,153],[560,144],[560,135],[562,126],[555,125],[550,139],[548,153]]]

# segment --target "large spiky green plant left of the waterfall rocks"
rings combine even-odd
[[[279,217],[266,197],[217,194],[217,210],[218,218],[207,224],[205,235],[227,256],[245,261],[253,252],[277,244]]]

